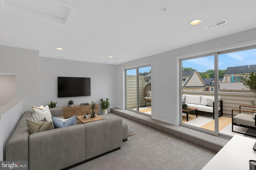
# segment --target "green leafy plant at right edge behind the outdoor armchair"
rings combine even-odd
[[[246,75],[243,74],[242,84],[244,84],[244,86],[249,88],[254,94],[254,96],[256,97],[256,73],[255,72],[251,72],[250,74],[246,74]],[[255,100],[250,100],[250,103],[252,106],[256,105]]]

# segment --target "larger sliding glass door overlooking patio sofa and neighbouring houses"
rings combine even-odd
[[[180,124],[224,137],[239,135],[232,131],[232,117],[239,111],[232,115],[232,109],[256,105],[242,81],[256,72],[255,54],[254,46],[180,59]],[[256,134],[239,126],[234,130]]]

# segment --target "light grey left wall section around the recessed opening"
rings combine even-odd
[[[39,51],[0,45],[0,72],[16,75],[16,99],[22,111],[39,105]]]

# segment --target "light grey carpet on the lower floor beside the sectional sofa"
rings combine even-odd
[[[114,113],[102,117],[121,117]],[[200,170],[214,152],[121,117],[128,137],[121,149],[91,160],[72,170]]]

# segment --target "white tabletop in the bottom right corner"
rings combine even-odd
[[[249,170],[249,160],[256,160],[256,139],[235,135],[202,170]]]

